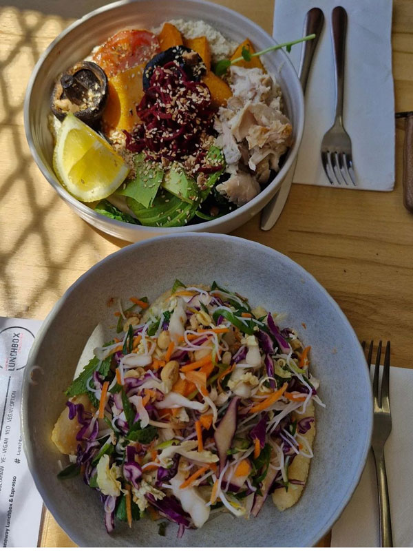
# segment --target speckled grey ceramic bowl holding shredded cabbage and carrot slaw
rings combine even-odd
[[[81,479],[59,481],[63,459],[50,439],[65,406],[79,357],[85,346],[101,344],[114,325],[112,297],[147,295],[150,300],[178,278],[187,284],[217,280],[250,298],[253,305],[286,313],[285,325],[310,344],[313,373],[321,381],[316,406],[315,457],[308,486],[296,506],[279,512],[272,500],[257,519],[215,517],[201,530],[167,538],[141,520],[129,530],[118,523],[108,536],[103,508]],[[306,325],[304,329],[303,324]],[[96,326],[98,329],[96,329]],[[113,330],[112,330],[113,331]],[[94,332],[94,342],[87,342]],[[113,336],[114,333],[112,333]],[[100,335],[100,342],[97,338]],[[85,362],[84,362],[85,363]],[[84,365],[83,363],[83,365]],[[32,384],[30,373],[34,366]],[[116,546],[304,546],[313,545],[339,517],[366,461],[372,430],[372,397],[363,351],[339,306],[304,269],[286,256],[255,242],[213,233],[152,238],[102,260],[63,295],[37,335],[23,384],[23,438],[36,486],[45,505],[76,543]]]

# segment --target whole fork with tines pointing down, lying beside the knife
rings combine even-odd
[[[341,6],[332,10],[331,36],[334,52],[335,118],[321,142],[321,162],[330,184],[341,185],[356,179],[352,164],[351,140],[343,127],[344,61],[346,50],[347,12]]]

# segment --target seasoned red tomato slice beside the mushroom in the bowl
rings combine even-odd
[[[107,76],[147,63],[160,51],[158,38],[148,30],[121,30],[107,39],[93,54]]]

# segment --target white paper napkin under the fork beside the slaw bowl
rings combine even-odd
[[[392,432],[385,444],[394,547],[413,545],[413,369],[391,368]],[[332,547],[379,546],[379,503],[372,453],[359,486],[332,528]]]

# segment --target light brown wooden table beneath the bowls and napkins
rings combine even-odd
[[[271,33],[273,0],[215,0]],[[304,0],[303,0],[304,1]],[[356,0],[354,0],[356,1]],[[6,4],[7,4],[6,0]],[[23,98],[34,63],[73,17],[102,0],[15,0],[0,7],[0,315],[43,319],[98,260],[126,245],[78,218],[32,160]],[[396,111],[413,109],[413,2],[394,0]],[[360,52],[362,55],[363,52]],[[396,129],[392,193],[293,185],[268,232],[260,217],[234,232],[278,249],[337,300],[360,340],[392,341],[392,364],[412,367],[413,217],[403,208],[403,124]],[[328,537],[320,545],[328,545]],[[40,544],[74,546],[46,512]]]

